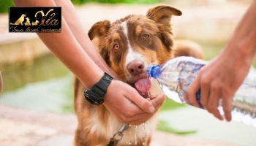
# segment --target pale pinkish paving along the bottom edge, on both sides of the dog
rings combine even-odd
[[[73,114],[34,112],[0,104],[1,146],[71,146],[77,120]],[[154,133],[151,146],[235,146],[206,139]]]

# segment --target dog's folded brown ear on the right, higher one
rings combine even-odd
[[[154,20],[156,23],[162,23],[164,25],[170,24],[170,19],[172,15],[180,16],[182,12],[174,7],[167,5],[159,5],[152,9],[148,9],[147,17]]]

